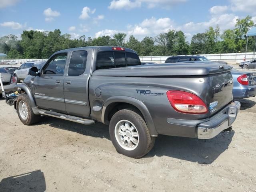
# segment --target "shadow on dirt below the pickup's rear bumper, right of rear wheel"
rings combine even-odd
[[[223,132],[208,140],[160,135],[146,157],[169,156],[198,164],[211,164],[228,149],[234,133],[234,130]]]

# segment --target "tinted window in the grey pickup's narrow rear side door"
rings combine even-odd
[[[86,68],[87,51],[74,51],[71,55],[68,76],[82,75]]]

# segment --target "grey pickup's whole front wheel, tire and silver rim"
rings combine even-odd
[[[40,115],[33,113],[27,94],[20,94],[17,98],[17,113],[24,125],[32,125],[40,120]]]

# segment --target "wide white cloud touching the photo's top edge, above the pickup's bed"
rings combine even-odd
[[[172,6],[184,3],[187,0],[112,0],[109,9],[132,9],[145,4],[148,8],[160,6],[162,8],[171,8]]]

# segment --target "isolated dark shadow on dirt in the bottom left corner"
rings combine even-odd
[[[0,182],[0,191],[3,192],[44,192],[46,183],[41,170],[28,172],[4,178]]]

